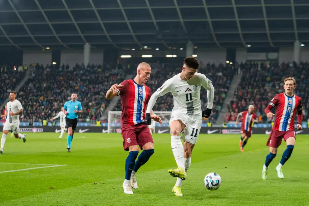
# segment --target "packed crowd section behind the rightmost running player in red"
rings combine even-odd
[[[234,99],[228,105],[225,122],[235,121],[239,112],[248,110],[254,105],[260,122],[270,123],[274,118],[268,118],[264,112],[269,101],[275,94],[284,92],[283,80],[292,76],[296,80],[294,94],[302,98],[303,119],[307,121],[309,108],[309,63],[301,62],[247,62],[240,65],[242,78],[234,92]],[[297,119],[296,119],[297,120]]]

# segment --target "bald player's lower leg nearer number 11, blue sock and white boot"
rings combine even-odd
[[[144,164],[146,164],[146,162],[149,160],[149,158],[151,157],[152,154],[154,154],[154,143],[152,142],[148,142],[145,145],[143,145],[143,151],[140,153],[140,155],[138,156],[134,168],[132,170],[131,173],[131,186],[133,189],[137,189],[137,181],[136,181],[136,172],[138,169],[140,169],[140,167]]]

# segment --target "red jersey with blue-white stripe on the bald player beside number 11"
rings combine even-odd
[[[151,90],[145,84],[139,85],[134,80],[125,80],[119,85],[121,98],[121,128],[136,125],[145,120],[145,112],[151,97]]]

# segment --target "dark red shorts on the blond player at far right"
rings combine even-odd
[[[288,131],[272,130],[270,132],[266,145],[269,147],[278,148],[281,145],[282,138],[284,139],[284,141],[286,141],[287,138],[289,137],[294,137],[296,139],[296,133],[294,130],[288,130]]]

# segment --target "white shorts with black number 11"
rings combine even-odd
[[[174,120],[181,120],[186,125],[180,139],[196,145],[202,126],[202,120],[191,118],[187,114],[181,112],[172,112],[169,124]]]

